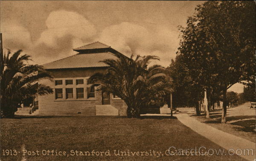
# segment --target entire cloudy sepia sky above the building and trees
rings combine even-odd
[[[23,50],[43,65],[100,41],[125,54],[175,59],[178,26],[204,1],[9,1],[0,0],[4,51]],[[230,90],[241,93],[242,85]]]

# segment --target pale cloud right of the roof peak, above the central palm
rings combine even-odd
[[[105,28],[99,36],[99,41],[111,45],[123,54],[157,55],[160,61],[154,61],[168,66],[176,56],[178,32],[165,26],[154,29],[128,22]]]

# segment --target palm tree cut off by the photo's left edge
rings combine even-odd
[[[30,56],[20,54],[21,50],[0,55],[1,116],[14,116],[24,99],[53,92],[49,86],[38,83],[52,78],[49,73],[40,65],[25,64]]]

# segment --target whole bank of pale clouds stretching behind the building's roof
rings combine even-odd
[[[3,25],[2,25],[3,24]],[[26,28],[15,23],[1,23],[1,31],[7,30],[3,38],[10,49],[23,49],[24,53],[33,56],[38,63],[49,62],[67,57],[77,48],[94,41],[101,41],[125,55],[157,55],[160,61],[154,63],[168,66],[171,58],[175,58],[178,45],[178,32],[165,26],[145,28],[142,25],[123,22],[111,25],[96,34],[94,25],[81,14],[71,11],[52,11],[47,20],[47,30],[41,37],[31,42]],[[13,32],[12,32],[13,31]],[[17,32],[18,31],[18,32]],[[49,54],[49,55],[48,55]]]

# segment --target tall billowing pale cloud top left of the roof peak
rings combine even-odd
[[[82,41],[96,34],[94,25],[81,14],[73,11],[52,11],[46,20],[47,30],[41,33],[37,45],[44,43],[56,47],[58,38],[71,35],[74,41]]]

